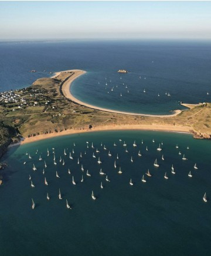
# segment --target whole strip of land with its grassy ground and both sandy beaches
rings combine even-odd
[[[0,156],[9,144],[32,142],[58,135],[111,129],[150,129],[192,133],[210,139],[211,104],[191,105],[172,115],[143,115],[86,104],[70,93],[71,83],[85,74],[73,69],[40,78],[30,87],[11,92],[0,102]]]

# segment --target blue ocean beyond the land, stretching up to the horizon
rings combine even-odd
[[[182,109],[181,101],[211,97],[211,42],[2,42],[0,59],[1,91],[26,87],[49,72],[83,69],[87,74],[74,81],[72,92],[100,107],[169,114]]]

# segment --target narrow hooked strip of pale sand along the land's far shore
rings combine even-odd
[[[175,111],[172,111],[173,114],[169,114],[169,115],[149,115],[149,114],[138,114],[138,113],[132,113],[132,112],[124,112],[124,111],[118,111],[118,110],[113,110],[113,109],[108,109],[108,108],[100,108],[91,104],[88,104],[86,102],[80,101],[79,99],[77,99],[76,97],[74,97],[71,92],[70,92],[70,87],[72,82],[80,77],[80,75],[86,74],[86,71],[83,70],[79,70],[79,69],[73,69],[73,70],[68,70],[68,71],[61,71],[61,72],[57,72],[55,76],[53,77],[57,77],[57,75],[59,75],[62,72],[74,72],[74,74],[67,79],[66,82],[64,82],[64,84],[62,85],[62,92],[64,97],[66,97],[67,99],[70,99],[71,101],[83,105],[85,107],[89,107],[89,108],[93,108],[93,109],[98,109],[100,111],[105,111],[105,112],[111,112],[111,113],[116,113],[116,114],[125,114],[125,115],[141,115],[141,116],[145,116],[145,117],[162,117],[162,118],[169,118],[169,117],[175,117],[176,115],[180,114],[182,111],[177,109]]]

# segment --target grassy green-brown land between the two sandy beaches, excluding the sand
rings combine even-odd
[[[30,87],[15,91],[20,101],[0,102],[1,148],[9,144],[11,139],[18,139],[16,134],[32,137],[66,129],[89,129],[89,125],[178,125],[189,127],[196,138],[210,139],[210,103],[197,105],[168,118],[98,111],[63,97],[61,86],[72,74],[64,72],[56,78],[40,78]]]

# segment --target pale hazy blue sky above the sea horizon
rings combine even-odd
[[[0,1],[1,39],[211,39],[210,1]]]

